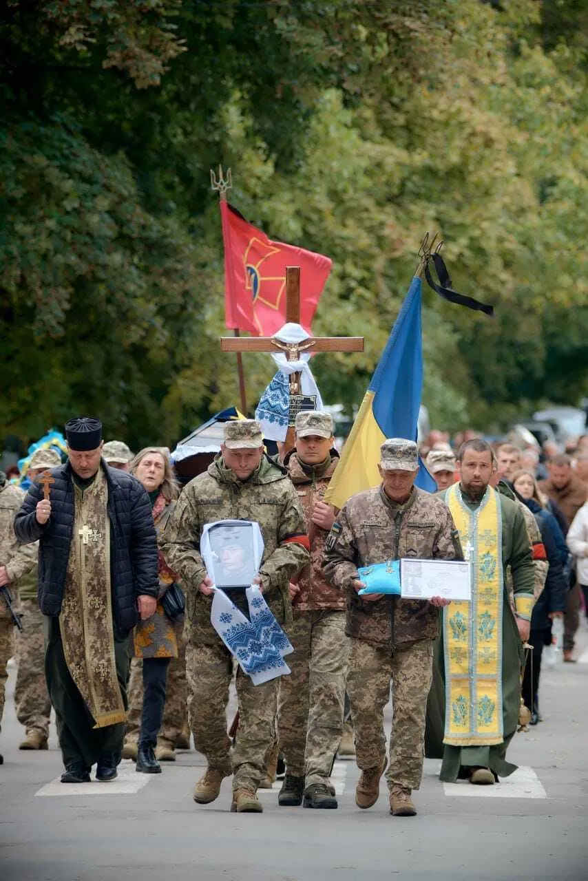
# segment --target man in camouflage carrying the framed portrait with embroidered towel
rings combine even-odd
[[[211,624],[212,581],[199,553],[206,523],[227,518],[257,521],[264,537],[259,581],[280,624],[291,621],[288,585],[309,561],[304,515],[287,470],[264,455],[261,429],[254,419],[225,423],[220,455],[186,486],[160,537],[168,566],[187,590],[186,672],[190,724],[207,768],[194,801],[218,798],[220,784],[233,770],[231,811],[260,812],[257,787],[265,774],[265,754],[274,739],[277,681],[254,686],[238,670],[240,722],[233,751],[227,737],[228,690],[233,659]],[[231,599],[246,613],[244,591]]]

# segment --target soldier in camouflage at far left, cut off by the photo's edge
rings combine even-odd
[[[9,484],[4,471],[0,471],[0,587],[6,587],[13,604],[18,605],[19,581],[33,570],[37,560],[37,548],[33,545],[19,546],[14,534],[14,518],[26,493],[18,486]],[[4,599],[0,598],[0,722],[4,711],[4,686],[8,674],[6,664],[14,650],[13,623]],[[0,765],[3,759],[0,755]]]

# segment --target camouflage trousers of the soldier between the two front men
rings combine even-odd
[[[288,627],[290,676],[279,680],[279,751],[287,773],[325,783],[343,733],[349,640],[346,612],[295,611]]]

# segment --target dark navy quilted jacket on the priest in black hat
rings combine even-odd
[[[137,597],[157,596],[157,537],[149,496],[136,478],[125,471],[108,468],[102,460],[108,483],[110,519],[110,584],[115,628],[128,633],[137,624]],[[42,490],[34,483],[14,521],[21,544],[39,540],[39,608],[56,618],[61,611],[67,563],[73,531],[74,494],[71,465],[51,469],[51,516],[41,526],[35,517]]]

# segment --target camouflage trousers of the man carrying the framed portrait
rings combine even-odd
[[[236,691],[239,727],[233,755],[227,735],[228,689],[233,678],[233,658],[218,645],[188,645],[188,709],[194,744],[209,767],[228,770],[233,764],[233,788],[254,792],[265,776],[265,754],[275,739],[278,684],[276,679],[253,685],[237,670]]]

